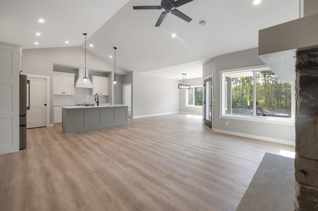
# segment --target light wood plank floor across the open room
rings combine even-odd
[[[28,129],[27,149],[0,156],[0,211],[235,211],[265,152],[294,150],[191,116]]]

